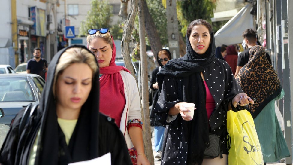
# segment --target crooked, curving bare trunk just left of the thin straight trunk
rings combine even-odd
[[[121,40],[121,50],[123,55],[123,60],[125,63],[125,67],[130,70],[131,75],[137,79],[134,75],[134,68],[131,63],[131,58],[129,55],[129,41],[131,37],[131,32],[134,27],[134,20],[135,16],[137,14],[137,6],[138,1],[137,0],[131,0],[130,1],[130,12],[128,14],[128,19],[126,20],[125,27],[123,29],[123,35]],[[137,81],[137,80],[136,80]]]

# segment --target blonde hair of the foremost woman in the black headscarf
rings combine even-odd
[[[63,73],[63,71],[68,66],[74,63],[85,63],[91,68],[92,74],[94,77],[95,73],[98,70],[98,65],[95,61],[96,61],[95,56],[92,53],[90,53],[89,50],[86,50],[81,47],[72,47],[67,49],[64,53],[62,53],[55,69],[54,82],[53,82],[53,96],[55,97],[55,93],[56,93],[55,87],[56,87],[57,78],[59,77],[60,74]]]

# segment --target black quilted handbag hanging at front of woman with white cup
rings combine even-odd
[[[210,143],[204,150],[204,159],[213,159],[220,154],[220,138],[218,135],[209,134]]]

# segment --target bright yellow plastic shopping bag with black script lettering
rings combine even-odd
[[[229,165],[263,165],[253,118],[247,110],[227,112]]]

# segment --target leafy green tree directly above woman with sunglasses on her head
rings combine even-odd
[[[81,22],[80,35],[86,36],[88,29],[110,27],[112,15],[112,6],[108,1],[92,0],[86,20]]]

